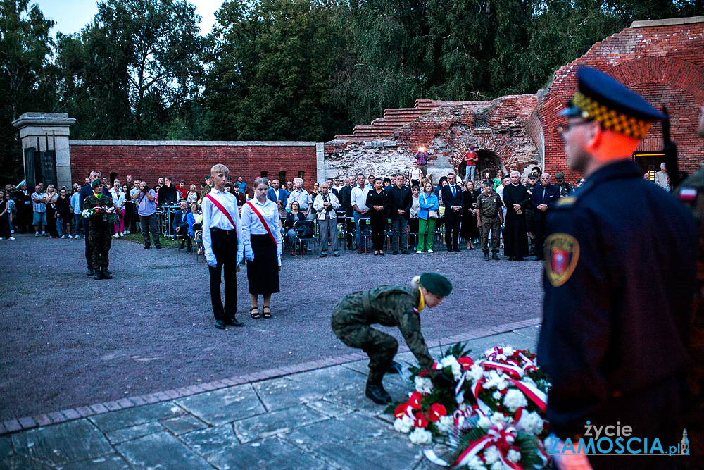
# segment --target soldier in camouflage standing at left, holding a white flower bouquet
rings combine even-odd
[[[99,179],[91,183],[92,194],[83,203],[83,217],[90,222],[88,232],[89,251],[92,252],[93,278],[112,279],[108,274],[108,252],[111,247],[110,225],[118,218],[113,199],[103,194],[103,183]]]

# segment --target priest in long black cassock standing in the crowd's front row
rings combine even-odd
[[[529,202],[528,190],[521,184],[521,174],[512,171],[511,184],[503,188],[503,205],[506,206],[503,256],[508,256],[508,261],[523,261],[528,256],[526,207]]]

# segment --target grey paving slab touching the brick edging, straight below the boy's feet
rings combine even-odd
[[[232,423],[266,412],[252,385],[237,385],[175,400],[211,426]]]

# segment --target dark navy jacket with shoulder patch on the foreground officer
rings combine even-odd
[[[560,438],[686,366],[695,226],[642,173],[632,161],[611,163],[548,214],[538,361]]]

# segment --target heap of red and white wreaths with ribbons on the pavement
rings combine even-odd
[[[512,347],[486,350],[477,361],[462,343],[451,347],[433,369],[453,378],[442,388],[429,371],[410,367],[415,392],[407,402],[392,405],[394,428],[412,443],[447,445],[445,458],[432,450],[425,455],[441,466],[478,469],[539,469],[549,463],[543,440],[547,376],[535,354]]]

